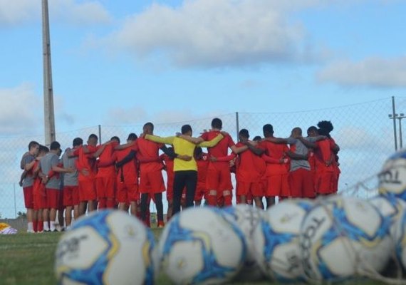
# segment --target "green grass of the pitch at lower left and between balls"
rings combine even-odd
[[[159,239],[162,229],[152,229],[152,232],[155,239]],[[0,284],[56,284],[53,262],[59,237],[61,237],[60,233],[0,235]],[[170,281],[160,274],[157,276],[156,284],[170,284]],[[256,284],[271,283],[263,281]],[[356,281],[347,284],[378,285],[381,283]]]

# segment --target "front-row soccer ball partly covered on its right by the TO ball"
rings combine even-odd
[[[264,212],[253,234],[253,244],[256,260],[269,279],[303,280],[299,234],[312,206],[308,199],[288,199]]]

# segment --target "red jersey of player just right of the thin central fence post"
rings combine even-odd
[[[244,144],[238,142],[237,147],[242,147]],[[256,170],[256,156],[251,150],[245,150],[239,153],[239,157],[236,162],[237,178],[241,182],[256,182],[259,180],[259,172]]]

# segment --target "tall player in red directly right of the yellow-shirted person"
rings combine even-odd
[[[212,120],[212,130],[203,133],[195,143],[212,140],[222,131],[222,125],[222,120],[214,118]],[[234,140],[227,134],[217,145],[208,147],[207,152],[209,156],[227,157],[229,148],[231,148],[233,152],[236,152]],[[231,206],[232,184],[229,162],[210,161],[207,168],[206,184],[207,190],[209,191],[207,202],[210,206],[217,205],[217,193],[222,193],[224,206]]]

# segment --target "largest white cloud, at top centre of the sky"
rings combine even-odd
[[[152,4],[105,39],[141,58],[165,54],[177,66],[245,66],[308,61],[306,30],[289,13],[321,1],[194,0]]]

